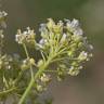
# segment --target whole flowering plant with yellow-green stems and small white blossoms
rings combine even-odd
[[[5,12],[0,12],[1,25],[5,16]],[[4,35],[0,30],[1,101],[12,96],[13,104],[40,104],[39,95],[50,84],[52,73],[56,75],[58,81],[67,75],[77,76],[84,62],[92,56],[93,47],[83,36],[78,20],[55,23],[48,18],[48,23],[40,25],[39,32],[41,39],[37,41],[37,34],[30,27],[25,31],[17,30],[15,41],[23,47],[26,54],[26,57],[22,58],[18,54],[2,53]],[[28,48],[38,51],[40,57],[36,60],[36,54],[31,56]]]

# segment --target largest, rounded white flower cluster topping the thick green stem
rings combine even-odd
[[[55,54],[53,62],[56,62],[58,76],[77,76],[82,69],[82,63],[92,56],[88,50],[92,50],[93,47],[83,36],[78,20],[60,21],[57,24],[52,18],[48,21],[47,24],[40,25],[42,38],[39,48],[43,51],[44,57]]]

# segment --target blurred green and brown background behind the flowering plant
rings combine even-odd
[[[18,28],[30,26],[38,32],[39,24],[49,17],[78,18],[94,47],[94,56],[79,76],[53,81],[47,93],[53,96],[53,104],[104,104],[104,0],[1,0],[0,3],[9,13],[4,32],[5,51],[10,54],[23,55],[14,41]]]

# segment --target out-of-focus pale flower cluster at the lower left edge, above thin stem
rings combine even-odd
[[[14,86],[14,78],[17,77],[21,63],[16,55],[11,56],[8,54],[0,56],[0,82],[2,80],[2,84],[0,86],[2,89],[10,89]],[[0,88],[0,90],[2,90]]]

